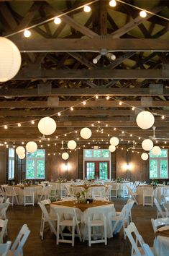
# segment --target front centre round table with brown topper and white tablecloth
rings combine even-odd
[[[116,216],[114,204],[112,202],[95,201],[92,203],[75,203],[73,201],[52,202],[50,204],[50,215],[55,216],[55,208],[75,208],[78,221],[81,221],[81,234],[86,237],[85,224],[88,222],[88,208],[96,209],[93,219],[97,218],[97,208],[101,208],[106,216],[107,237],[112,237],[111,219]]]

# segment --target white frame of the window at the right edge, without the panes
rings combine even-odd
[[[149,161],[149,179],[168,179],[168,176],[166,178],[161,178],[160,177],[160,161],[161,160],[166,160],[167,161],[167,170],[168,170],[168,148],[165,148],[165,149],[162,149],[162,150],[166,150],[167,151],[167,156],[166,157],[164,157],[164,156],[162,156],[162,157],[158,157],[158,156],[152,157],[150,155],[150,161],[151,160],[157,161],[157,178],[150,177],[150,161]]]

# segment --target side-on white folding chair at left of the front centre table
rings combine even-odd
[[[54,223],[57,221],[57,217],[50,216],[50,214],[47,212],[47,208],[45,205],[50,205],[50,200],[43,200],[41,202],[38,202],[38,205],[40,205],[40,208],[42,210],[42,218],[40,222],[40,237],[43,239],[44,229],[45,229],[45,223],[48,223],[50,226],[50,229],[52,232],[57,236],[57,231],[55,229]]]

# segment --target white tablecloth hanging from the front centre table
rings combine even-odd
[[[55,208],[65,208],[63,205],[50,205],[50,215],[55,216]],[[93,207],[96,209],[96,216],[94,215],[93,218],[97,217],[97,208],[101,208],[104,216],[106,216],[106,227],[107,227],[107,237],[111,238],[112,237],[112,222],[111,219],[116,216],[116,211],[114,208],[114,205],[102,205],[102,206],[97,206]],[[81,211],[78,208],[76,209],[76,215],[79,221],[81,221],[81,233],[83,236],[86,237],[86,230],[84,230],[85,223],[88,221],[88,209]]]

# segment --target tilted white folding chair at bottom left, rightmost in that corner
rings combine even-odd
[[[27,238],[30,234],[27,224],[24,224],[19,231],[14,243],[12,244],[11,249],[9,250],[9,255],[20,256],[23,255],[23,247]]]

